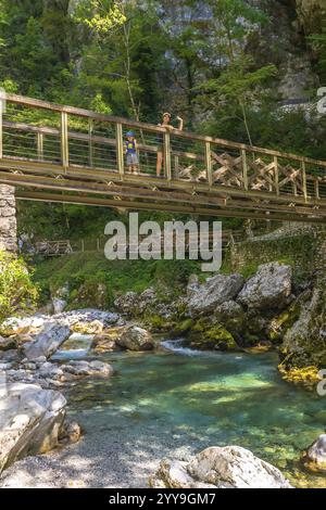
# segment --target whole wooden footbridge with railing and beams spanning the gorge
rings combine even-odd
[[[16,187],[18,200],[326,221],[325,161],[15,94],[0,104],[0,182]],[[125,164],[129,129],[139,175]]]

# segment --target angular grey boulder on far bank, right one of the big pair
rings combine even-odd
[[[248,308],[271,309],[284,308],[291,296],[292,269],[279,263],[259,266],[256,273],[250,278],[240,294],[238,302]]]

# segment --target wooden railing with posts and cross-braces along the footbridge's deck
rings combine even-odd
[[[145,182],[222,187],[263,196],[292,196],[302,203],[326,199],[326,162],[254,148],[212,137],[103,115],[87,110],[7,94],[0,115],[0,157],[67,169],[108,170],[128,176],[124,146],[133,129],[138,141],[139,170]],[[77,171],[76,171],[77,174]],[[108,174],[109,176],[109,174]],[[109,177],[110,178],[110,177]],[[136,179],[136,177],[135,177]]]

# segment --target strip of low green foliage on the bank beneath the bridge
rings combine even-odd
[[[196,260],[114,260],[101,253],[78,253],[57,259],[38,262],[34,281],[40,286],[43,299],[49,291],[70,283],[70,302],[77,297],[80,285],[95,288],[104,283],[108,289],[108,306],[114,298],[128,291],[142,292],[152,286],[159,296],[167,299],[166,290],[177,296],[191,273],[200,272]]]

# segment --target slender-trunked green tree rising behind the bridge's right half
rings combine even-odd
[[[212,76],[198,87],[203,94],[202,104],[206,104],[208,110],[226,109],[235,118],[240,107],[248,140],[252,144],[247,106],[259,98],[260,86],[274,77],[277,69],[268,64],[256,67],[246,47],[251,34],[260,29],[266,17],[243,0],[211,0],[210,4],[218,65],[212,71]]]

